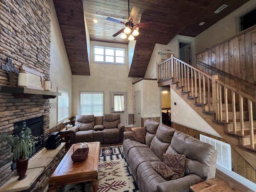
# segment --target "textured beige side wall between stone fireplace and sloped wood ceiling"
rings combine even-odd
[[[50,80],[52,81],[51,91],[57,92],[57,88],[65,88],[70,91],[70,111],[72,111],[72,73],[70,70],[65,45],[62,39],[54,4],[51,1],[51,46],[50,46]],[[57,103],[57,98],[50,99],[50,103]],[[50,108],[50,128],[56,126],[57,108]]]

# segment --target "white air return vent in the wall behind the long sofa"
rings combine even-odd
[[[218,151],[216,164],[231,171],[230,144],[200,134],[200,140],[211,144]]]

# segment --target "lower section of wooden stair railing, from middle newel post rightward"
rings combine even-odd
[[[238,136],[242,147],[256,151],[256,123],[254,121],[256,98],[236,90],[218,79],[213,83],[216,84],[214,87],[216,87],[217,95],[216,120],[226,123],[226,133]],[[228,103],[232,104],[231,114],[228,111]],[[225,117],[222,116],[222,104],[225,106]],[[230,115],[231,117],[229,117]],[[229,121],[230,119],[232,122]]]

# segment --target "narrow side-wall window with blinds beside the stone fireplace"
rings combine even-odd
[[[58,122],[68,118],[69,115],[69,90],[58,88]]]

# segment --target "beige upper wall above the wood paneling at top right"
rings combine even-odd
[[[195,37],[196,53],[218,44],[239,32],[238,18],[256,7],[256,0],[250,0],[222,20]],[[200,27],[200,26],[198,26]]]

